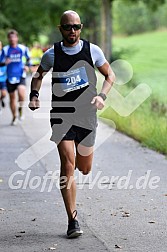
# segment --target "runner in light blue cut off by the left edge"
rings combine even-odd
[[[0,55],[2,53],[2,42],[0,41]],[[0,112],[1,106],[5,107],[4,98],[6,96],[6,66],[0,65]]]

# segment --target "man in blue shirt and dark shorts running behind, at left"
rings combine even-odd
[[[26,57],[27,62],[30,60],[29,50],[26,46],[18,44],[18,33],[15,30],[8,32],[9,45],[2,49],[0,62],[7,66],[7,90],[10,97],[10,108],[13,119],[11,125],[17,124],[16,114],[16,90],[19,100],[19,119],[23,120],[22,105],[25,98],[25,78],[27,66],[23,63],[23,57]]]

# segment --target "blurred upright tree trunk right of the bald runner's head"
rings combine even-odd
[[[101,48],[109,62],[112,47],[112,1],[102,0],[101,5]]]

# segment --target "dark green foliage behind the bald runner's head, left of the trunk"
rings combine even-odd
[[[61,14],[67,9],[79,12],[87,29],[87,37],[95,34],[99,22],[99,0],[93,4],[90,1],[71,0],[24,0],[18,4],[17,0],[0,0],[0,35],[6,41],[6,31],[16,29],[21,40],[29,44],[38,39],[40,34],[49,34],[56,30]],[[85,15],[85,13],[87,15]],[[97,27],[97,28],[95,28]]]

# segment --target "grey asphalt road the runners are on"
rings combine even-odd
[[[48,78],[40,94],[45,105]],[[51,179],[44,183],[47,174],[59,171],[57,150],[49,141],[48,111],[25,108],[26,119],[17,126],[9,125],[8,108],[0,116],[0,252],[166,252],[167,160],[102,122],[98,141],[111,133],[95,151],[92,180],[75,173],[84,235],[66,239],[58,180],[53,186]]]

